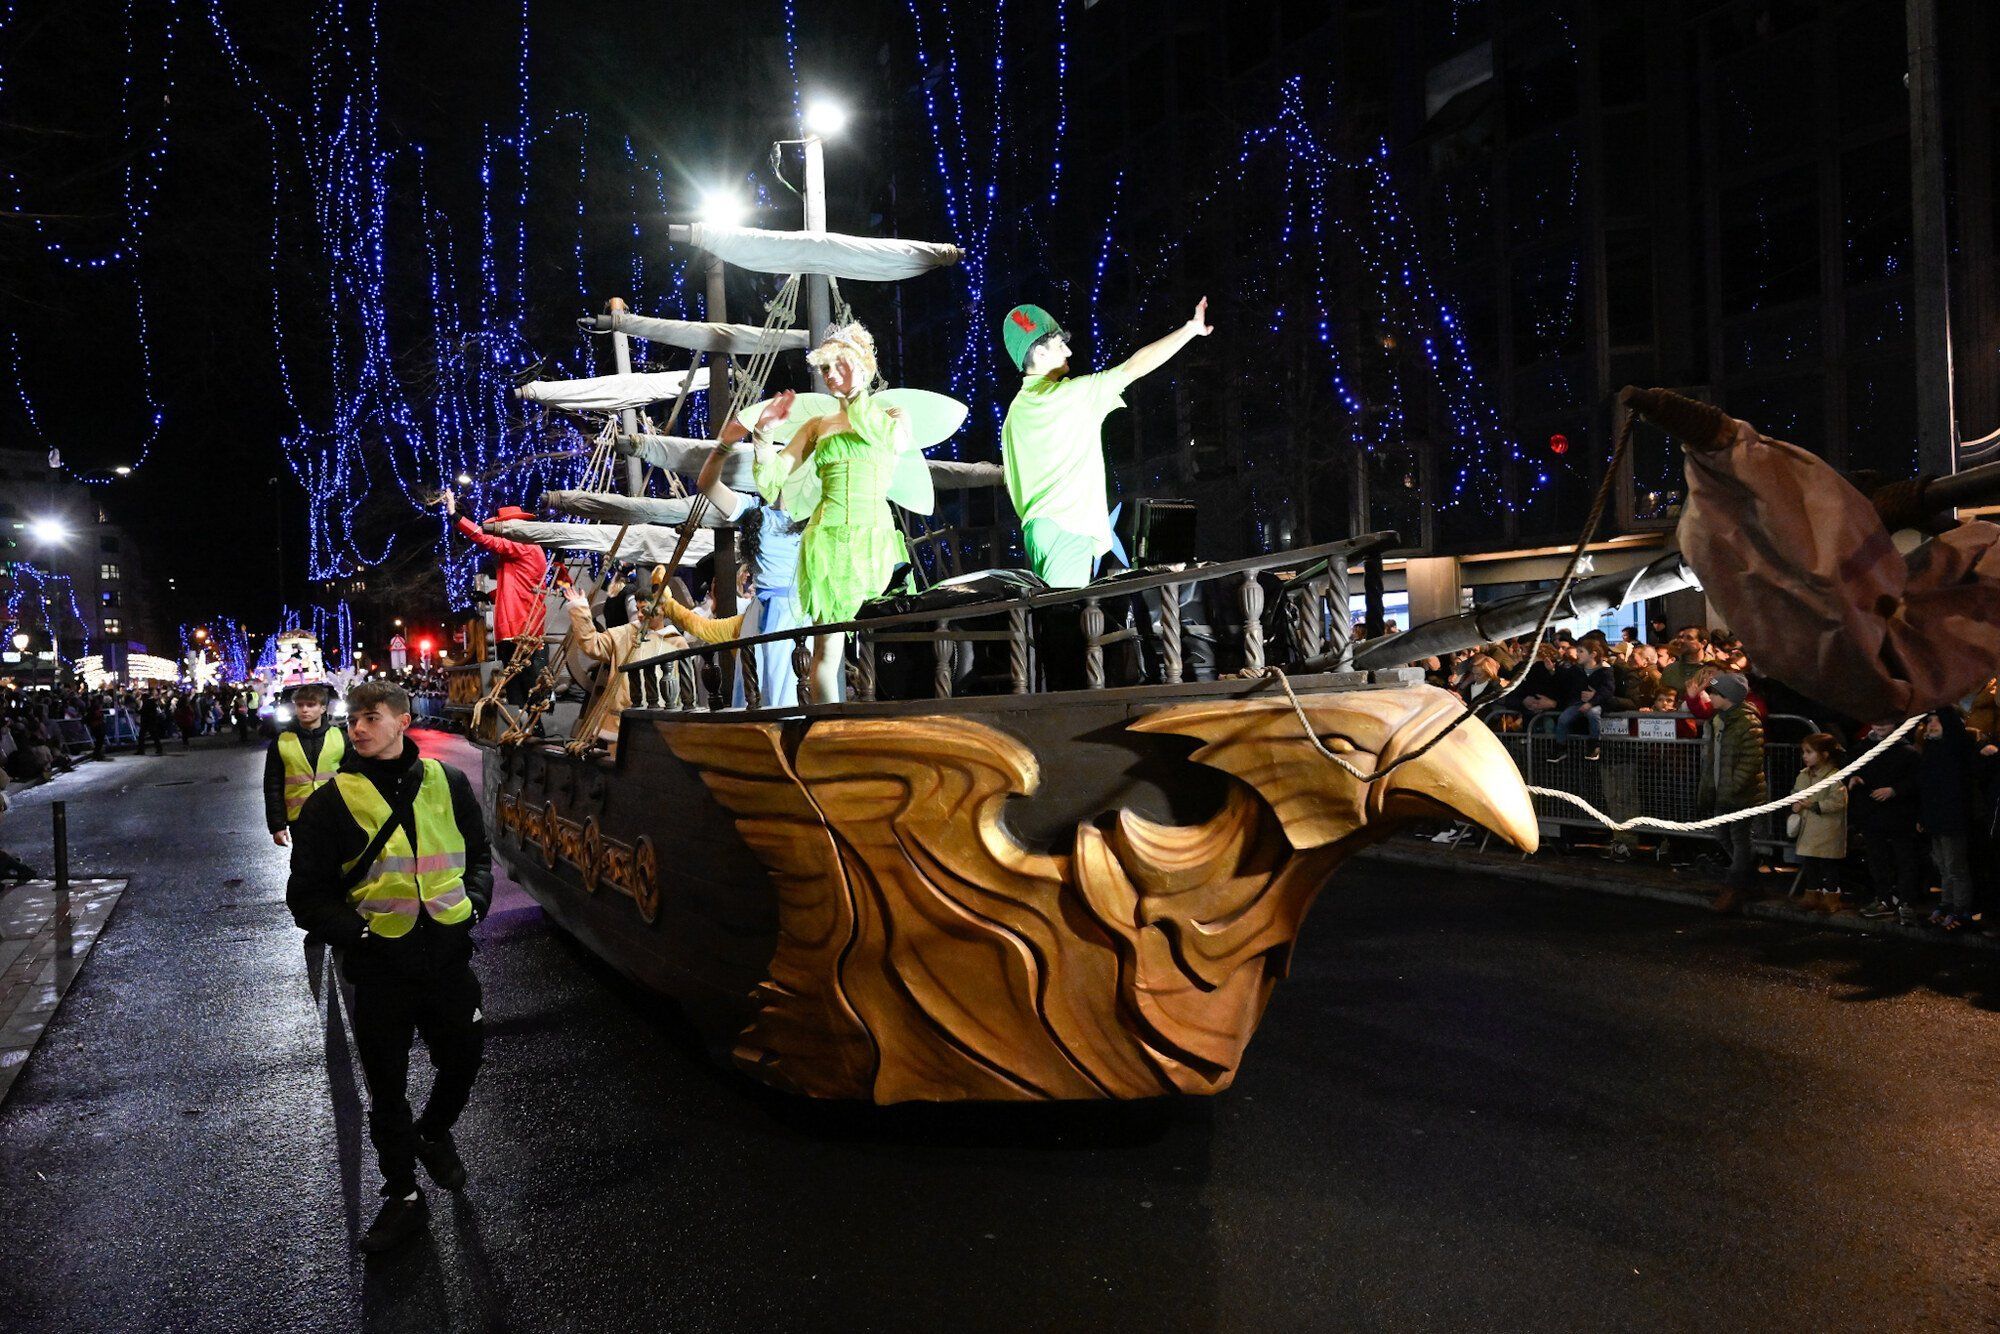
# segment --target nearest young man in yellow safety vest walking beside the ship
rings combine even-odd
[[[292,822],[284,902],[340,950],[354,984],[354,1046],[368,1080],[368,1138],[386,1202],[362,1234],[368,1252],[416,1236],[430,1206],[416,1164],[446,1190],[466,1184],[452,1124],[472,1096],[486,1046],[472,924],[492,902],[492,852],[472,784],[416,754],[410,696],[370,680],[348,690],[348,754]],[[424,1034],[438,1078],[410,1118],[410,1040]]]

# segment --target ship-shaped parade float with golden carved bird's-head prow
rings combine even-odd
[[[788,276],[794,298],[800,274],[902,280],[958,258],[824,232],[676,236]],[[744,402],[776,352],[804,348],[780,314],[784,294],[766,328],[620,304],[586,326],[708,354],[710,370],[746,356],[730,380]],[[630,382],[524,396],[616,412],[684,402],[698,376],[604,380]],[[646,452],[632,418],[624,436]],[[692,474],[708,448],[668,436],[650,456]],[[946,486],[996,472],[934,466]],[[662,504],[564,502],[626,522]],[[608,546],[586,530],[610,524],[562,528],[512,536]],[[634,522],[610,544],[644,560],[672,538]],[[624,668],[634,706],[614,756],[482,738],[494,848],[562,928],[778,1088],[882,1104],[1214,1094],[1358,848],[1438,816],[1536,846],[1522,778],[1480,722],[1380,780],[1346,772],[1390,766],[1462,714],[1418,672],[1356,662],[1350,572],[1380,620],[1390,546],[1368,534],[1140,560],[1082,590],[974,580],[874,604],[846,626],[842,704],[760,706],[750,648],[790,640],[804,680],[806,632],[642,660]],[[714,706],[738,674],[748,706]]]

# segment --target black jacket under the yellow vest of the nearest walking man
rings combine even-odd
[[[394,760],[364,760],[360,752],[350,748],[340,760],[340,772],[360,774],[382,792],[382,800],[394,806],[420,758],[412,740],[404,740],[402,754]],[[472,922],[486,916],[494,896],[494,858],[486,844],[486,820],[480,812],[480,800],[472,792],[472,782],[450,764],[444,766],[444,778],[452,790],[452,816],[456,816],[458,832],[466,840],[470,922],[442,926],[428,912],[420,912],[410,934],[396,940],[364,934],[362,916],[342,888],[340,868],[368,850],[368,834],[348,814],[348,804],[334,784],[308,796],[306,808],[292,824],[292,880],[284,890],[284,904],[292,910],[292,920],[306,932],[346,946],[342,968],[350,982],[372,978],[428,980],[472,956]],[[410,834],[414,844],[416,832],[410,830]],[[424,848],[416,848],[416,852],[422,854]]]

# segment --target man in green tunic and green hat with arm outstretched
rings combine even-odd
[[[1040,306],[1016,306],[1000,336],[1022,372],[1020,392],[1000,426],[1006,490],[1020,516],[1028,564],[1050,588],[1082,588],[1112,550],[1104,494],[1104,418],[1124,406],[1124,390],[1166,366],[1176,352],[1214,332],[1208,298],[1194,318],[1124,364],[1070,374],[1070,336]]]

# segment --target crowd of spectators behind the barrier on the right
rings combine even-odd
[[[1982,912],[2000,904],[2000,698],[1992,680],[1974,698],[1930,714],[1846,782],[1808,798],[1892,726],[1860,726],[1762,676],[1742,642],[1722,630],[1682,626],[1668,636],[1656,624],[1652,642],[1630,626],[1616,640],[1596,630],[1556,634],[1540,646],[1502,640],[1424,668],[1434,686],[1490,710],[1498,732],[1550,728],[1554,746],[1540,752],[1548,766],[1598,762],[1606,736],[1656,738],[1666,726],[1642,728],[1642,718],[1672,718],[1672,736],[1700,742],[1702,816],[1782,796],[1766,778],[1766,724],[1786,718],[1804,734],[1794,736],[1798,800],[1786,808],[1786,862],[1778,870],[1796,866],[1786,882],[1798,902],[2000,934],[2000,912]],[[1660,840],[1658,852],[1696,874],[1718,874],[1716,908],[1736,910],[1772,878],[1750,820],[1722,826],[1714,840],[1720,854],[1690,856],[1700,840],[1686,838]],[[1630,856],[1634,846],[1636,838],[1620,834],[1606,854]]]

